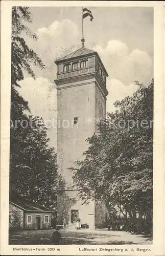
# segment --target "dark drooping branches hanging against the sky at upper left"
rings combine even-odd
[[[24,73],[27,72],[35,79],[32,65],[38,66],[40,69],[44,65],[40,57],[28,47],[25,39],[21,37],[22,33],[26,33],[34,40],[37,35],[33,34],[26,23],[31,23],[31,12],[29,7],[12,7],[12,43],[11,43],[11,120],[22,120],[26,117],[25,110],[30,111],[28,102],[25,101],[17,92],[16,88],[20,87],[18,82],[23,80]],[[11,130],[12,137],[12,130]]]

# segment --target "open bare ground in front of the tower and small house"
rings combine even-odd
[[[50,244],[54,230],[23,230],[10,232],[9,244]],[[75,230],[61,231],[62,244],[152,244],[152,238],[125,231]]]

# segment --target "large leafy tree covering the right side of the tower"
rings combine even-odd
[[[84,203],[101,200],[109,212],[117,207],[132,223],[137,214],[152,220],[153,80],[148,87],[136,84],[133,96],[116,101],[115,113],[87,139],[84,161],[71,168]]]

